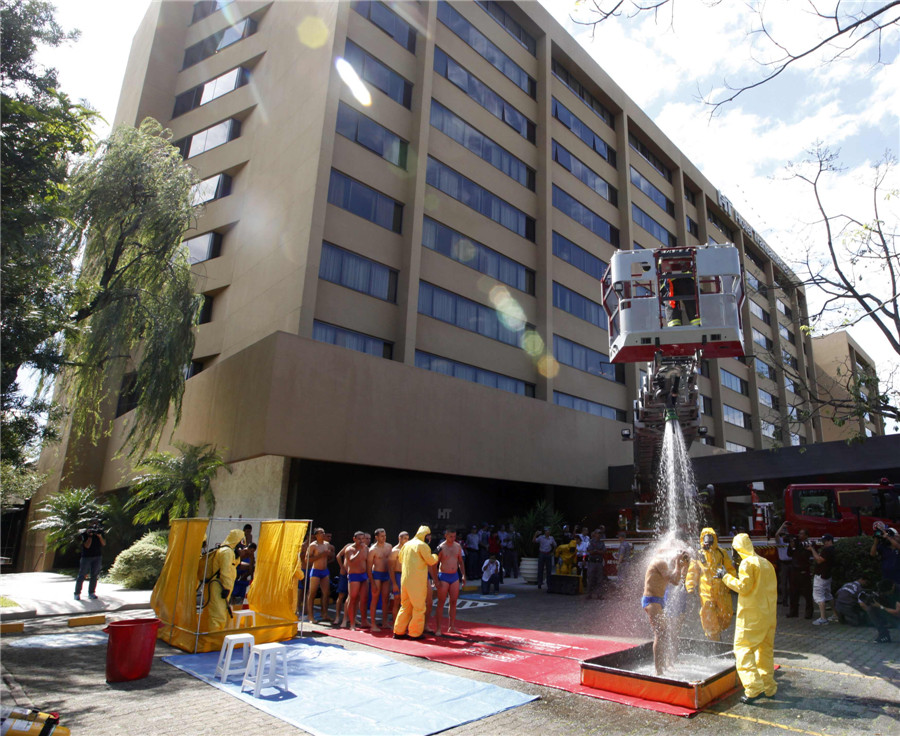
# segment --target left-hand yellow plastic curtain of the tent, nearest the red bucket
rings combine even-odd
[[[150,595],[150,605],[162,621],[159,638],[191,651],[198,625],[197,563],[208,526],[206,519],[172,522],[166,561]]]

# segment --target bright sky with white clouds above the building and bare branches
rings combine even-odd
[[[815,1],[820,7],[834,4]],[[880,62],[878,47],[871,42],[831,63],[826,63],[827,52],[812,55],[711,116],[701,97],[716,96],[726,84],[759,79],[760,60],[771,58],[772,45],[754,33],[760,27],[752,10],[757,0],[679,0],[656,16],[612,18],[593,32],[572,20],[573,15],[592,17],[590,1],[541,2],[789,266],[803,258],[807,248],[814,255],[824,251],[811,190],[791,180],[786,171],[789,163],[806,158],[817,141],[839,151],[843,167],[824,182],[828,210],[872,219],[871,168],[886,151],[897,155],[900,149],[898,25],[881,37]],[[58,21],[64,28],[78,28],[81,39],[43,52],[39,59],[59,69],[63,91],[86,99],[111,121],[131,40],[149,3],[56,0],[55,4]],[[623,5],[630,4],[625,0]],[[843,6],[868,11],[879,4],[845,0]],[[827,30],[811,14],[808,0],[768,0],[764,7],[766,26],[790,49],[816,43]],[[900,17],[900,9],[892,17]],[[101,126],[100,132],[106,130]],[[900,189],[896,171],[892,186]],[[898,202],[900,198],[882,203],[893,208],[892,217],[883,219],[900,219]],[[799,267],[796,271],[802,276]],[[868,277],[867,286],[873,284],[877,275]],[[808,290],[807,298],[814,308],[816,294]],[[891,351],[875,328],[860,325],[850,333],[885,375],[891,364],[900,363],[884,357]]]

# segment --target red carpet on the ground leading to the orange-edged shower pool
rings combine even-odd
[[[647,708],[677,716],[693,716],[697,710],[657,703],[620,693],[585,687],[581,684],[581,661],[601,654],[628,649],[631,644],[544,631],[511,629],[505,626],[457,621],[463,637],[433,637],[421,641],[393,639],[388,630],[377,634],[368,630],[331,629],[337,639],[366,644],[398,654],[423,657],[433,662],[478,672],[512,677],[535,685],[555,687],[570,693],[610,700],[623,705]]]

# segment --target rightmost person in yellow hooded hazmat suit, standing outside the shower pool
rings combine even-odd
[[[742,703],[752,703],[765,695],[771,698],[775,684],[775,617],[778,605],[778,578],[767,559],[753,551],[746,534],[738,534],[731,546],[741,556],[737,577],[721,566],[716,577],[738,594],[734,627],[734,657],[738,677],[744,686]]]

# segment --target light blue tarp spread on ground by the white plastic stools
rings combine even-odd
[[[431,734],[476,721],[537,696],[413,667],[380,654],[348,651],[315,639],[288,647],[290,693],[241,693],[241,678],[214,679],[218,652],[163,657],[236,698],[317,736]]]

